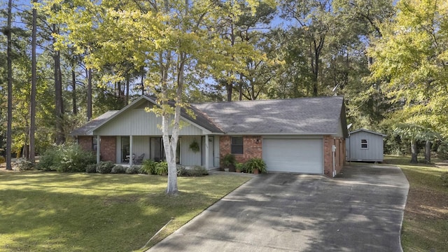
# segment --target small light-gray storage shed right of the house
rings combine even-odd
[[[346,139],[347,161],[383,162],[385,134],[360,129]]]

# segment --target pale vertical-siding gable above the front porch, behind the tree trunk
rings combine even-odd
[[[148,113],[145,109],[131,109],[94,131],[100,136],[157,136],[162,135],[158,127],[162,125],[162,118]],[[182,127],[180,135],[200,135],[202,130],[193,125]]]

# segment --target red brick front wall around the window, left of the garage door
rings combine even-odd
[[[257,143],[258,140],[258,143]],[[219,137],[219,156],[222,159],[230,153],[232,146],[232,137]],[[243,154],[235,154],[237,162],[246,162],[251,158],[262,158],[262,137],[260,136],[244,136],[243,137]]]

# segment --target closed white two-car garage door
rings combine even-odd
[[[263,139],[268,172],[323,174],[322,139]]]

